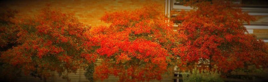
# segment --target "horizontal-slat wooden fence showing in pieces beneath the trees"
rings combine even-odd
[[[97,61],[96,64],[99,65],[101,61]],[[267,69],[268,70],[268,69]],[[50,78],[47,78],[47,82],[89,82],[88,79],[84,75],[85,70],[78,69],[77,73],[68,73],[68,78],[63,79],[60,77],[57,72],[53,72],[53,76]],[[161,81],[158,80],[152,80],[149,82],[181,82],[183,81],[183,77],[181,74],[177,73],[176,67],[174,68],[173,75],[163,77]],[[18,82],[43,82],[40,78],[35,78],[32,76],[25,76],[24,74],[21,74],[22,77],[18,78]],[[232,72],[231,75],[244,75],[244,76],[253,76],[253,79],[245,80],[245,79],[237,79],[237,78],[223,78],[226,82],[268,82],[268,74],[266,73],[246,73],[246,72]],[[257,79],[254,77],[265,77],[266,79]],[[113,75],[110,75],[108,79],[105,79],[103,81],[97,81],[97,82],[118,82],[119,78],[115,77]]]

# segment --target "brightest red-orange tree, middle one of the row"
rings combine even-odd
[[[99,43],[96,52],[102,60],[95,68],[95,78],[115,75],[120,81],[161,80],[168,70],[176,32],[160,9],[151,5],[132,12],[107,13],[101,18],[110,26],[91,31]]]

